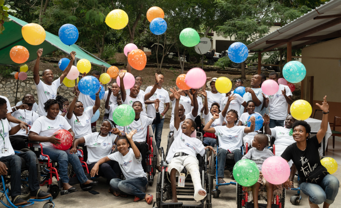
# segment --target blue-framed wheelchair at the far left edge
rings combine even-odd
[[[20,153],[19,151],[14,151],[15,153]],[[7,162],[3,162],[6,167],[8,168],[7,171],[7,176],[2,176],[1,175],[1,187],[0,187],[0,193],[2,193],[2,196],[0,197],[0,202],[1,204],[3,204],[6,208],[26,208],[26,207],[30,207],[32,205],[34,205],[34,202],[46,202],[43,206],[43,208],[54,208],[54,203],[52,202],[53,197],[49,197],[46,199],[29,199],[29,187],[28,187],[28,177],[27,174],[23,174],[25,171],[27,171],[27,167],[26,167],[26,161],[24,160],[23,157],[20,157],[22,160],[22,166],[21,166],[21,172],[22,172],[22,177],[21,177],[21,182],[22,182],[22,196],[23,196],[23,192],[24,192],[24,196],[26,197],[22,197],[24,200],[28,200],[28,204],[24,205],[24,206],[15,206],[11,200],[9,199],[9,195],[10,195],[10,166]],[[38,172],[38,171],[37,171]],[[38,177],[39,177],[39,173],[38,173]],[[28,194],[25,194],[28,193]],[[28,196],[28,198],[27,198]],[[7,200],[7,204],[4,202],[3,198],[6,198]]]

